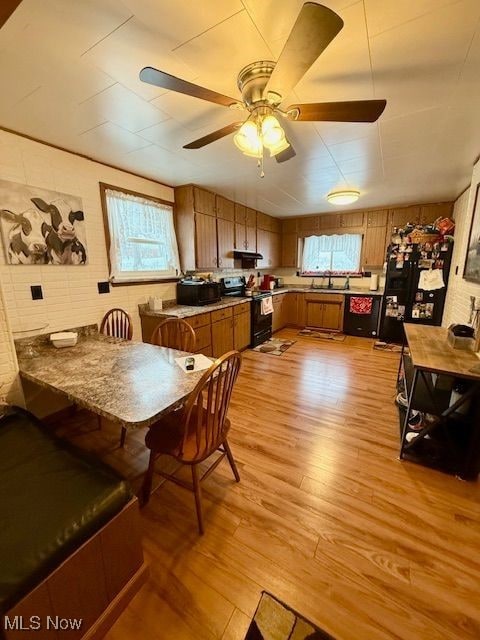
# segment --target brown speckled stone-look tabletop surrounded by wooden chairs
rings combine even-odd
[[[20,375],[122,426],[138,428],[180,406],[204,373],[184,372],[175,362],[187,355],[182,351],[87,333],[75,347],[62,349],[40,336],[36,357],[22,355],[17,343]]]

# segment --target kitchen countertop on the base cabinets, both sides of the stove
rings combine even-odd
[[[350,289],[317,289],[308,286],[287,286],[280,289],[273,289],[272,295],[276,296],[281,293],[340,293],[349,294],[355,296],[383,296],[383,289],[378,291],[369,291],[368,289],[353,288]],[[213,304],[205,304],[199,307],[194,307],[186,304],[173,304],[166,306],[161,311],[151,311],[148,304],[139,304],[138,312],[140,316],[153,316],[161,318],[190,318],[191,316],[198,316],[201,313],[209,313],[210,311],[218,311],[219,309],[225,309],[226,307],[234,307],[244,302],[250,302],[252,297],[245,296],[244,298],[222,298],[221,302],[215,302]]]

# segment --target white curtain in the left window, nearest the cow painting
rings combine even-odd
[[[113,282],[175,277],[180,272],[171,206],[107,189]]]

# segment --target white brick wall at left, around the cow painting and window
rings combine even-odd
[[[0,280],[12,331],[58,331],[100,322],[112,307],[122,307],[134,321],[134,337],[140,339],[137,305],[150,295],[175,297],[174,284],[112,287],[100,295],[97,282],[108,279],[107,253],[100,204],[99,182],[173,201],[171,187],[0,131],[0,177],[78,195],[83,200],[88,245],[85,266],[34,266],[5,264],[0,254]],[[31,299],[30,285],[41,284],[43,300]],[[2,350],[3,356],[3,350]]]

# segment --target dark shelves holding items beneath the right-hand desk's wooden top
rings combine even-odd
[[[466,409],[474,389],[463,385],[457,393],[456,378],[415,370],[409,354],[402,353],[396,398],[401,459],[462,475],[471,435]]]

